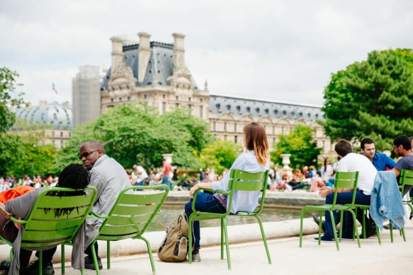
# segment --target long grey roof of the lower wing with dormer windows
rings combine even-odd
[[[216,95],[209,96],[209,111],[218,114],[229,113],[240,116],[270,117],[271,119],[287,118],[304,121],[324,119],[321,108],[316,106]]]

